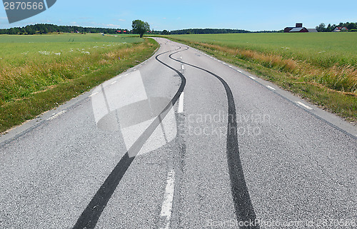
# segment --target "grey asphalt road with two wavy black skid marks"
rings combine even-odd
[[[357,228],[357,128],[156,38],[0,137],[0,228]]]

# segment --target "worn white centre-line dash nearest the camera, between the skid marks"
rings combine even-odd
[[[161,229],[170,228],[172,202],[174,201],[174,190],[175,190],[175,170],[172,169],[171,171],[169,171],[169,175],[167,177],[164,203],[161,208],[160,215],[162,218],[166,218],[166,220],[164,221],[164,228]]]

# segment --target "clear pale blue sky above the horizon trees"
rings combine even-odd
[[[149,22],[151,29],[189,28],[280,30],[302,22],[315,28],[321,22],[338,24],[357,21],[357,1],[92,1],[57,0],[41,14],[9,24],[0,9],[0,28],[48,23],[131,29],[131,21]]]

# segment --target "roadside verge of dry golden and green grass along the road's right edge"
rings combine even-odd
[[[188,46],[192,46],[196,49],[206,52],[211,56],[215,56],[222,61],[232,63],[247,71],[260,76],[268,81],[276,83],[281,88],[291,91],[292,93],[306,99],[307,101],[320,106],[321,108],[328,110],[332,113],[336,113],[341,118],[350,121],[351,123],[357,123],[357,94],[355,91],[337,90],[333,86],[337,86],[338,82],[329,85],[329,81],[334,81],[333,77],[326,74],[326,81],[317,81],[313,74],[302,75],[301,72],[307,71],[309,73],[321,73],[321,66],[315,66],[312,63],[306,63],[308,61],[298,61],[301,66],[296,67],[296,62],[291,61],[291,58],[284,57],[282,55],[274,55],[271,52],[264,53],[263,51],[251,51],[250,48],[244,49],[237,46],[227,46],[225,44],[212,44],[211,40],[200,42],[194,35],[188,36],[190,39],[186,39],[185,36],[164,36],[173,41],[178,41]],[[216,36],[215,37],[219,37]],[[207,39],[206,39],[207,40]],[[214,41],[213,41],[214,43]],[[244,51],[247,51],[244,53]],[[292,54],[291,54],[292,55]],[[275,59],[278,59],[274,63]],[[353,62],[354,60],[347,60]],[[290,66],[290,63],[291,64]],[[306,66],[305,69],[303,67]],[[331,66],[331,65],[329,65]],[[329,67],[328,66],[328,67]],[[302,68],[298,71],[297,68]],[[356,88],[356,71],[353,69],[353,74],[348,76],[352,78],[352,84]],[[321,73],[323,74],[323,73]],[[348,82],[350,85],[351,82]],[[343,88],[342,88],[343,89]]]

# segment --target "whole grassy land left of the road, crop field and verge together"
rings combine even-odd
[[[152,40],[101,34],[0,36],[0,132],[149,58]]]

